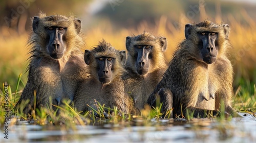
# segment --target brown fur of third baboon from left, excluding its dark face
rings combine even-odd
[[[147,32],[130,37],[130,39],[130,42],[126,40],[126,49],[128,50],[126,61],[127,73],[123,76],[125,80],[125,92],[133,97],[136,107],[142,109],[167,67],[163,53],[166,49],[166,39]],[[137,59],[135,45],[153,46],[150,67],[148,73],[145,75],[139,75],[136,72],[135,64]]]

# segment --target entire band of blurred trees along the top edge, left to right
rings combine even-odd
[[[90,13],[88,6],[91,3],[104,4],[104,7],[96,13]],[[180,0],[180,1],[155,1],[155,0],[10,0],[0,1],[0,27],[9,27],[18,33],[23,33],[30,28],[30,18],[37,15],[41,10],[48,15],[69,15],[74,13],[89,22],[83,25],[94,26],[102,19],[109,18],[115,28],[134,28],[139,23],[146,21],[148,25],[155,25],[156,20],[162,15],[167,16],[168,22],[179,21],[180,14],[184,14],[190,21],[199,21],[199,4],[203,4],[208,18],[220,15],[221,19],[227,21],[227,16],[236,17],[241,23],[246,24],[248,18],[240,13],[244,12],[255,20],[255,5],[234,3],[227,1],[210,0]],[[220,4],[221,3],[221,4]],[[218,5],[221,5],[218,7]],[[95,5],[90,9],[97,9]],[[219,8],[219,9],[218,9]],[[89,16],[88,16],[89,15]],[[90,19],[87,19],[90,18]],[[245,22],[244,22],[245,21]]]

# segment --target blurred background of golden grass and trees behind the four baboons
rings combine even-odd
[[[229,59],[234,67],[234,92],[254,94],[256,83],[256,1],[212,0],[10,0],[0,2],[0,83],[15,87],[22,74],[22,90],[27,82],[31,17],[39,10],[47,15],[74,14],[82,20],[82,33],[91,49],[104,38],[116,49],[125,50],[125,38],[148,31],[167,38],[166,58],[184,36],[186,23],[210,19],[230,28]],[[82,51],[84,49],[81,49]],[[2,86],[1,86],[2,89]],[[238,93],[239,92],[239,93]]]

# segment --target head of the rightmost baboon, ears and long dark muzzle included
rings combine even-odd
[[[219,37],[224,33],[227,38],[228,31],[228,25],[219,26],[208,20],[197,25],[185,26],[186,39],[196,42],[196,47],[200,51],[198,59],[206,64],[212,64],[217,60],[221,43]]]

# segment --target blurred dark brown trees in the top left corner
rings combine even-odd
[[[9,27],[19,33],[30,28],[30,18],[36,16],[39,10],[52,15],[69,15],[74,13],[82,15],[84,7],[91,0],[57,0],[57,1],[38,1],[38,0],[10,0],[0,1],[0,26]]]

